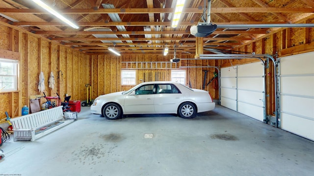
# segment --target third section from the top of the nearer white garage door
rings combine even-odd
[[[292,114],[298,114],[300,116],[304,116],[306,118],[314,120],[314,99],[294,96],[282,96],[281,100],[282,111]]]

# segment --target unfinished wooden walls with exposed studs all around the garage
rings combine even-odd
[[[307,21],[308,23],[314,20]],[[28,105],[31,95],[38,94],[38,75],[44,72],[47,95],[59,93],[61,98],[64,94],[71,95],[72,100],[85,100],[85,84],[92,85],[92,98],[98,95],[115,91],[126,90],[132,86],[121,86],[122,62],[169,62],[173,58],[162,54],[129,54],[117,57],[114,55],[88,55],[62,44],[54,43],[38,35],[24,31],[7,23],[0,22],[0,56],[20,61],[19,91],[0,93],[0,117],[8,111],[11,117],[21,115],[23,105]],[[235,51],[256,54],[278,54],[287,56],[292,54],[314,51],[313,28],[285,28],[269,33],[265,38],[253,40]],[[193,54],[180,54],[177,58],[194,58]],[[180,66],[235,66],[254,62],[252,60],[189,60],[181,61]],[[202,88],[204,68],[185,68],[187,83],[192,88]],[[212,78],[214,68],[207,69],[207,82]],[[266,94],[273,95],[274,83],[272,63],[266,70]],[[56,81],[55,89],[48,88],[50,72],[53,72]],[[62,71],[62,72],[61,72]],[[140,79],[145,81],[170,80],[170,70],[167,69],[142,69],[137,70],[137,83]],[[214,88],[205,88],[214,99],[218,99],[219,91]],[[267,101],[267,114],[273,114],[274,98],[269,96]],[[42,99],[44,101],[45,99]]]

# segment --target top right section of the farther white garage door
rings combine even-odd
[[[248,76],[248,75],[260,76],[262,74],[261,73],[261,67],[263,67],[261,62],[241,65],[241,66],[238,66],[237,75],[239,77]]]

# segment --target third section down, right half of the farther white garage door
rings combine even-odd
[[[238,101],[248,104],[253,104],[256,106],[262,107],[264,102],[264,94],[262,92],[252,92],[252,91],[245,91],[239,90],[238,91]]]

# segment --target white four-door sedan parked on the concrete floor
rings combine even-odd
[[[97,97],[90,107],[94,114],[118,119],[123,114],[170,114],[194,118],[196,113],[213,110],[208,91],[188,88],[175,82],[144,82],[128,91]]]

